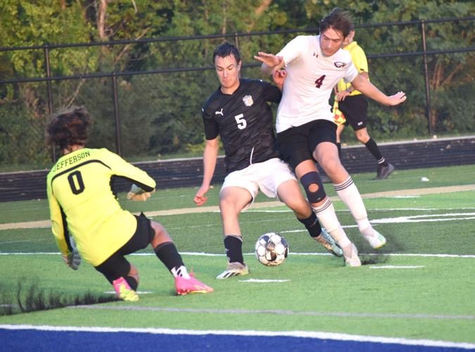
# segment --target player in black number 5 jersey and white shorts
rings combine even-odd
[[[239,50],[229,43],[217,46],[213,63],[220,87],[202,109],[206,137],[203,183],[194,202],[201,206],[208,199],[205,194],[215,172],[218,137],[221,137],[227,176],[220,191],[220,210],[228,266],[217,279],[248,274],[243,260],[239,213],[251,206],[259,189],[266,196],[277,196],[286,203],[311,237],[335,256],[343,256],[339,246],[320,227],[296,177],[277,151],[272,109],[267,102],[280,101],[284,74],[274,75],[278,87],[262,80],[240,78]]]

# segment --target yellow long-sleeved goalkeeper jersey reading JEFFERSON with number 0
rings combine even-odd
[[[94,266],[134,234],[137,220],[115,198],[113,176],[126,177],[145,191],[156,187],[146,172],[107,149],[78,149],[61,157],[49,172],[46,188],[51,230],[63,255],[69,253],[68,232],[82,258]]]

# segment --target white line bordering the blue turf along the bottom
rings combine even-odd
[[[375,342],[380,344],[400,344],[405,346],[431,346],[447,348],[473,349],[475,344],[467,342],[452,342],[429,339],[405,339],[400,337],[373,337],[365,335],[340,334],[334,332],[309,331],[255,331],[255,330],[188,330],[188,329],[159,329],[159,328],[125,328],[125,327],[58,327],[49,325],[0,325],[0,329],[21,330],[34,329],[55,332],[134,332],[142,334],[169,335],[232,335],[232,336],[262,336],[262,337],[300,337],[306,339],[329,339],[336,341]]]

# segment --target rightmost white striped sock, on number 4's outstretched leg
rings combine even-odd
[[[355,182],[351,177],[341,184],[334,184],[335,191],[350,209],[353,219],[355,219],[358,229],[362,234],[373,232],[373,228],[368,220],[368,214],[366,213],[365,203],[361,198],[361,194],[358,191]],[[368,234],[371,236],[372,234]]]

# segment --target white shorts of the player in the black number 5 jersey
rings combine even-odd
[[[279,158],[272,158],[231,172],[224,179],[221,191],[226,187],[241,187],[249,191],[254,201],[260,189],[266,196],[278,198],[277,188],[287,180],[297,180],[289,165]]]

